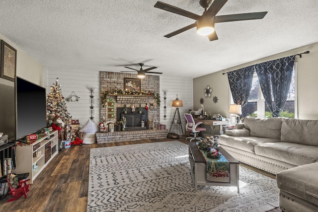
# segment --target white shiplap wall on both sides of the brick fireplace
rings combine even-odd
[[[96,125],[99,123],[100,113],[100,96],[99,96],[99,71],[87,71],[87,70],[47,70],[47,92],[50,92],[50,86],[55,83],[56,77],[59,77],[58,83],[61,84],[62,94],[65,98],[69,97],[74,91],[80,98],[78,102],[68,102],[68,111],[72,115],[73,119],[79,119],[80,126],[83,126],[90,117],[90,98],[89,90],[87,87],[96,87],[94,94],[94,122]],[[147,76],[146,76],[147,77]],[[163,92],[162,89],[168,90],[167,93],[167,117],[163,119]],[[172,107],[172,101],[176,98],[182,100],[183,107],[180,107],[181,122],[184,130],[185,119],[183,114],[189,112],[193,105],[193,83],[192,79],[180,78],[180,77],[166,77],[160,75],[160,124],[165,124],[169,130],[172,122],[172,118],[175,112],[175,107]],[[176,126],[176,125],[175,125]],[[177,133],[176,127],[173,127],[171,132]],[[179,134],[179,133],[178,133]]]

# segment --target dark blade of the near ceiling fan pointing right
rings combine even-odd
[[[233,14],[233,15],[220,15],[220,16],[215,16],[215,23],[262,19],[266,14],[267,14],[267,11],[266,12],[240,13],[240,14]]]

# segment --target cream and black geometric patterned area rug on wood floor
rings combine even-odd
[[[266,212],[279,206],[276,181],[244,167],[240,193],[195,191],[188,145],[179,141],[90,149],[88,212]]]

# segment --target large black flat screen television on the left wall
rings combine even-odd
[[[16,141],[46,127],[46,91],[20,77],[15,80]]]

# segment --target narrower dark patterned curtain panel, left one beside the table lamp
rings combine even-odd
[[[250,90],[252,88],[253,72],[254,66],[228,72],[228,79],[234,103],[241,105],[242,108],[244,108],[248,102]]]

